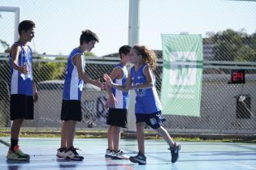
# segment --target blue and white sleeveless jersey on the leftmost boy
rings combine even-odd
[[[15,44],[20,45],[18,42]],[[28,45],[27,45],[28,46]],[[28,74],[24,75],[18,70],[15,70],[11,66],[11,53],[9,54],[9,64],[11,71],[11,95],[23,94],[27,96],[33,96],[33,53],[32,49],[28,46],[28,49],[24,49],[23,45],[20,45],[21,51],[18,57],[18,65],[27,65]]]

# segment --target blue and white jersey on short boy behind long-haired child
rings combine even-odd
[[[115,68],[120,68],[123,71],[123,78],[122,79],[114,79],[113,82],[124,86],[124,84],[128,78],[127,67],[122,64],[118,64],[114,67],[114,69]],[[111,91],[117,101],[115,103],[115,106],[112,106],[111,108],[126,108],[126,109],[128,109],[128,99],[129,99],[128,91],[119,91],[115,88],[111,88]]]

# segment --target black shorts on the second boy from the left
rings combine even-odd
[[[62,121],[81,121],[82,111],[80,100],[63,100],[60,119]]]

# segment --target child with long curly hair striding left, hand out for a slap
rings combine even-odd
[[[175,163],[179,158],[180,144],[173,142],[170,135],[162,126],[165,121],[161,110],[162,104],[158,99],[158,94],[155,88],[155,77],[153,71],[156,67],[156,57],[153,51],[145,46],[134,45],[131,49],[132,66],[125,86],[120,86],[112,82],[111,78],[104,74],[106,83],[122,91],[136,91],[136,128],[137,142],[139,153],[136,156],[131,156],[129,159],[133,163],[146,164],[145,146],[144,146],[144,129],[145,124],[158,132],[161,137],[168,143],[171,151],[171,162]]]

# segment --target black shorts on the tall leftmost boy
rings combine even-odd
[[[22,94],[11,95],[10,101],[11,121],[15,119],[29,119],[34,117],[33,96]]]

